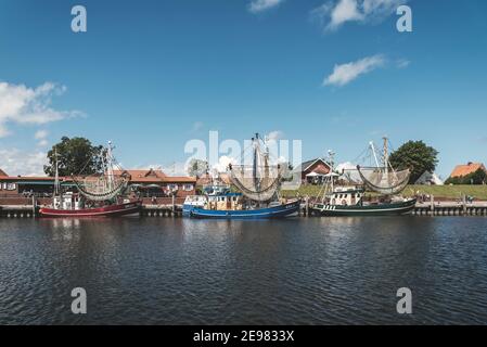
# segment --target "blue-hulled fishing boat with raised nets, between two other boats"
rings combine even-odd
[[[214,182],[204,189],[203,195],[185,198],[183,215],[212,219],[270,219],[297,215],[300,202],[279,196],[282,169],[279,164],[270,164],[266,141],[258,133],[252,139],[252,165],[228,166],[236,191]]]

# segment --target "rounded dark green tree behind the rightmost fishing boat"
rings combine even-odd
[[[411,169],[410,183],[414,183],[425,171],[433,172],[438,164],[438,151],[423,141],[408,141],[389,157],[396,170]]]

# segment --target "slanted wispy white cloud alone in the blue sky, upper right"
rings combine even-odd
[[[335,65],[333,73],[324,79],[323,86],[345,86],[360,75],[370,73],[375,68],[383,66],[384,64],[384,56],[373,55],[363,57],[356,62]]]

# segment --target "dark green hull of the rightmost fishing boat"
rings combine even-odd
[[[316,216],[323,217],[350,217],[350,216],[402,216],[409,215],[414,209],[416,200],[399,203],[367,206],[338,206],[316,204],[311,210]]]

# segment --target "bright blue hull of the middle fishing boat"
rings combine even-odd
[[[214,210],[190,205],[183,206],[184,216],[207,219],[273,219],[291,217],[296,215],[298,211],[299,201],[293,201],[291,203],[268,208],[245,210]]]

